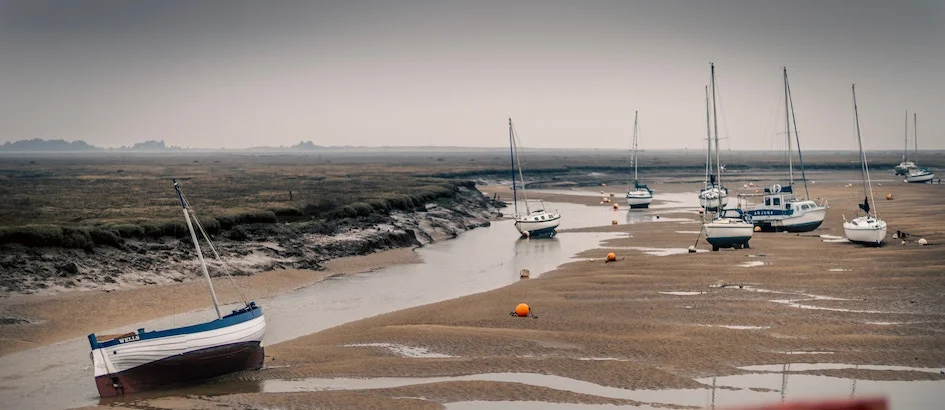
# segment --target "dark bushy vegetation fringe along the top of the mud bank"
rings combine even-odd
[[[450,181],[412,189],[410,194],[372,199],[367,202],[344,203],[340,199],[321,199],[300,207],[283,206],[270,209],[249,209],[200,219],[208,234],[228,231],[230,239],[245,239],[239,229],[247,224],[274,224],[309,221],[303,231],[332,234],[345,218],[377,219],[391,211],[416,211],[430,202],[453,197],[460,187],[475,188],[472,181]],[[381,222],[380,220],[376,222]],[[125,240],[147,240],[162,237],[183,238],[189,235],[182,220],[140,219],[131,223],[96,224],[91,226],[24,225],[0,228],[0,243],[17,243],[29,247],[60,247],[91,251],[95,246],[120,248]]]

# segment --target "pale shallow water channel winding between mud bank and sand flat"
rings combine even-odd
[[[614,212],[607,208],[567,203],[547,203],[546,207],[557,208],[562,214],[561,229],[610,225],[614,219]],[[565,232],[551,239],[522,240],[511,220],[496,221],[456,239],[416,249],[423,263],[334,277],[257,300],[268,323],[264,343],[271,345],[387,312],[496,289],[520,280],[523,268],[537,277],[617,235]],[[212,311],[205,309],[108,332],[170,328],[212,318]],[[3,408],[98,403],[88,341],[76,338],[0,357],[0,403]]]

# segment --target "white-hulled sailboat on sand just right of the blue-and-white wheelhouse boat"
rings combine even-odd
[[[866,162],[866,152],[863,151],[863,138],[860,137],[860,114],[856,107],[856,84],[853,85],[853,115],[856,118],[856,141],[860,147],[860,173],[863,179],[863,203],[859,208],[866,212],[866,215],[853,218],[847,221],[843,218],[843,232],[850,242],[862,243],[866,245],[880,246],[883,239],[886,238],[886,221],[879,219],[876,214],[876,202],[873,201],[874,208],[870,207],[870,200],[873,199],[873,184],[870,182],[869,164]]]

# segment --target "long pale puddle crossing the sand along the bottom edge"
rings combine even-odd
[[[890,408],[897,410],[937,408],[945,401],[945,380],[922,381],[873,381],[849,378],[816,376],[796,373],[819,368],[876,368],[877,370],[915,370],[902,366],[854,366],[842,364],[779,364],[745,366],[739,369],[752,371],[733,376],[695,379],[705,385],[697,389],[629,390],[601,386],[595,383],[561,376],[535,373],[487,373],[468,376],[374,379],[299,379],[266,380],[262,390],[270,393],[323,391],[323,390],[370,390],[402,386],[438,383],[446,381],[493,381],[542,386],[555,390],[570,391],[599,397],[626,399],[652,407],[666,406],[744,406],[776,404],[783,400],[837,399],[848,397],[883,396],[889,400]],[[756,370],[760,369],[760,370]],[[921,368],[920,368],[921,369]],[[938,369],[935,369],[936,371]],[[465,404],[464,404],[465,403]],[[481,408],[499,402],[460,402],[448,408]],[[506,402],[501,402],[506,403]],[[608,408],[590,405],[554,407],[557,404],[535,403],[501,408]],[[466,407],[463,407],[466,406]],[[472,406],[472,407],[470,407]],[[621,408],[621,407],[612,407]],[[634,408],[625,406],[622,408]],[[643,407],[649,408],[649,407]]]

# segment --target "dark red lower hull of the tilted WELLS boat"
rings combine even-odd
[[[258,370],[262,368],[264,359],[263,347],[259,342],[234,343],[98,376],[95,386],[103,398],[115,397],[179,386],[243,370]]]

